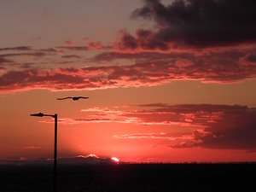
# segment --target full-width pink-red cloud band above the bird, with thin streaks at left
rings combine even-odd
[[[101,44],[99,44],[102,46]],[[18,50],[16,50],[18,49]],[[44,61],[46,56],[55,55],[56,49],[67,51],[87,50],[88,47],[59,47],[56,49],[20,52],[28,47],[9,48],[15,53],[0,55],[0,91],[15,92],[31,89],[47,90],[96,90],[116,87],[141,87],[171,83],[176,80],[200,80],[204,83],[234,83],[243,79],[255,79],[254,47],[226,49],[225,51],[195,53],[119,53],[104,52],[91,62],[112,62],[125,60],[131,64],[96,67],[67,67],[47,69],[37,63],[19,63],[18,56],[33,56]],[[31,49],[29,47],[29,49]],[[59,55],[59,65],[81,59],[79,55]],[[54,59],[53,59],[54,60]],[[63,61],[64,60],[64,61]],[[11,67],[13,65],[13,67]],[[14,66],[15,65],[15,66]],[[41,69],[38,69],[37,66]],[[19,70],[15,70],[19,67]],[[42,69],[44,68],[44,70]],[[20,69],[22,71],[20,71]]]

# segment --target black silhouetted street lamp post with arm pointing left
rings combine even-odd
[[[56,189],[56,168],[57,168],[57,122],[58,122],[58,114],[44,114],[44,113],[33,113],[30,114],[35,117],[44,117],[49,116],[55,119],[55,154],[54,154],[54,191]]]

